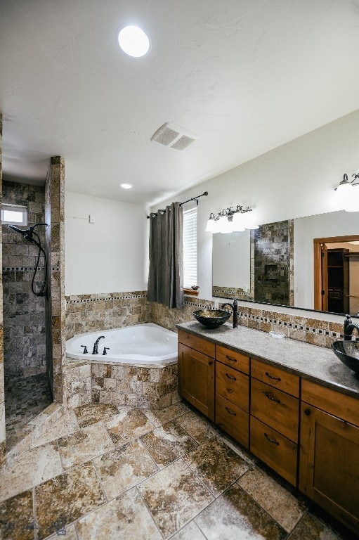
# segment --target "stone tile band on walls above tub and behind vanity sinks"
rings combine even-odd
[[[146,291],[133,291],[67,297],[67,339],[77,333],[121,328],[146,322],[152,322],[176,332],[178,323],[193,320],[193,311],[214,308],[214,302],[211,300],[185,296],[184,309],[169,309],[163,304],[148,302],[146,295]],[[268,309],[240,306],[238,323],[263,332],[271,330],[280,332],[287,338],[320,347],[330,347],[332,342],[343,338],[341,323],[322,321],[297,314],[282,314]]]

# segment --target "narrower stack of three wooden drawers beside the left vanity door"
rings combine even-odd
[[[218,345],[216,424],[249,447],[249,357]]]

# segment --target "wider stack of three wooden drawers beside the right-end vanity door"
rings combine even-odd
[[[295,486],[299,377],[252,359],[250,413],[250,451]]]

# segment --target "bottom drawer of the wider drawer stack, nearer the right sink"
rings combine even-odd
[[[296,485],[298,446],[252,416],[250,451],[285,480]]]

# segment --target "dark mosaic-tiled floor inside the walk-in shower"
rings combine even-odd
[[[27,423],[52,403],[46,373],[5,382],[6,447],[12,448],[29,428]]]

